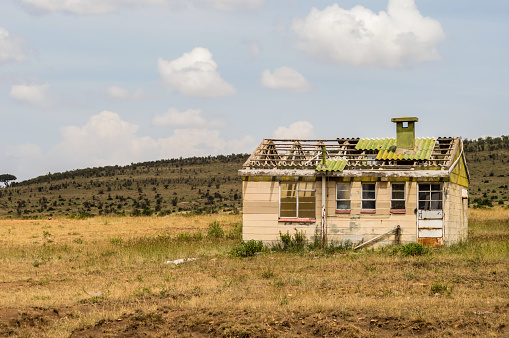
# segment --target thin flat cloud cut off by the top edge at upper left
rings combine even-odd
[[[179,0],[18,0],[36,13],[105,14],[141,6],[179,6]]]

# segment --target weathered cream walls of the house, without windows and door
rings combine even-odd
[[[336,243],[351,241],[366,242],[397,225],[401,227],[402,244],[417,242],[417,189],[418,182],[406,184],[405,213],[392,213],[390,209],[390,182],[376,183],[376,213],[361,211],[360,179],[351,182],[351,210],[349,214],[336,213],[336,180],[327,180],[326,212],[328,240]],[[279,240],[279,233],[294,234],[303,231],[309,240],[321,234],[322,182],[316,181],[316,220],[313,222],[279,221],[279,182],[243,182],[243,239],[262,240],[266,243]],[[468,230],[468,208],[458,184],[444,183],[444,244],[450,245],[466,239]],[[395,236],[389,235],[379,244],[394,243]]]

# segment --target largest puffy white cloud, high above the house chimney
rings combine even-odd
[[[444,40],[437,20],[423,17],[414,0],[389,0],[378,14],[363,7],[350,10],[333,4],[313,8],[305,19],[294,20],[296,47],[309,56],[353,66],[401,67],[440,58]]]

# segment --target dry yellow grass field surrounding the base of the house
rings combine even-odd
[[[471,210],[468,242],[429,252],[239,258],[228,253],[240,224],[221,214],[2,220],[0,336],[509,334],[506,208]]]

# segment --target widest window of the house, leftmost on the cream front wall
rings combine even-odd
[[[281,218],[315,218],[315,182],[291,182],[280,184]]]

